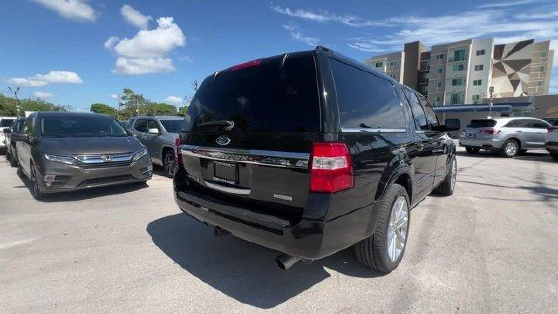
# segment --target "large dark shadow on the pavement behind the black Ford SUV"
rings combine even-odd
[[[277,251],[230,235],[217,238],[210,227],[185,213],[154,220],[147,232],[187,272],[237,301],[259,308],[280,305],[330,278],[324,267],[359,278],[381,275],[360,265],[352,249],[283,271],[273,262],[280,254]]]

